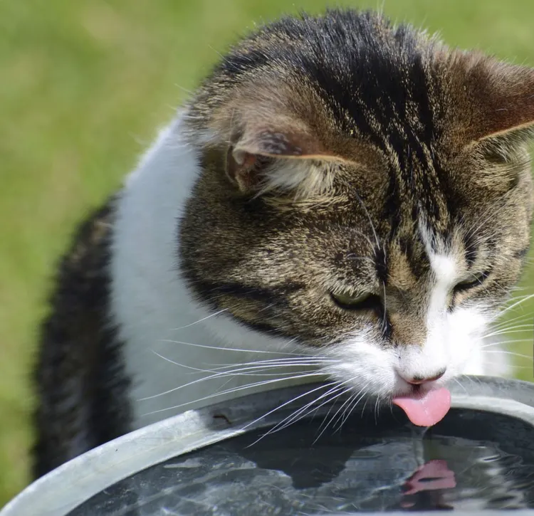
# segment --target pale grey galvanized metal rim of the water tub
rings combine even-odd
[[[85,500],[140,470],[246,431],[278,423],[288,415],[288,411],[295,410],[295,405],[291,405],[290,409],[282,406],[271,411],[273,408],[299,396],[299,393],[303,394],[299,401],[304,406],[308,399],[305,393],[318,385],[300,385],[243,396],[140,428],[43,476],[11,500],[0,511],[0,516],[67,516]],[[452,406],[456,409],[503,414],[534,426],[534,385],[528,382],[461,377],[456,386],[451,386],[451,394]],[[326,414],[332,406],[340,403],[342,400],[325,405],[318,414]],[[231,426],[224,418],[214,417],[218,414],[224,414],[231,421]],[[508,514],[507,511],[479,513]],[[434,512],[419,514],[430,516]],[[468,516],[473,512],[456,510],[455,514]],[[515,510],[514,515],[534,515],[534,510]]]

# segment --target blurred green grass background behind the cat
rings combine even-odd
[[[534,65],[530,0],[340,1],[380,7],[452,46]],[[29,372],[50,275],[219,53],[256,21],[322,0],[0,1],[0,507],[27,482]],[[534,291],[534,273],[518,294]],[[534,303],[513,310],[530,322]],[[530,332],[509,335],[532,379]],[[28,515],[29,516],[29,515]]]

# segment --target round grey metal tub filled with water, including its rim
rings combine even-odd
[[[461,377],[432,428],[394,406],[310,404],[326,390],[266,391],[141,428],[0,516],[534,515],[534,384]]]

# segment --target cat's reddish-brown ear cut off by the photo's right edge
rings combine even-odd
[[[486,59],[474,63],[467,77],[471,140],[511,134],[521,137],[528,135],[523,130],[534,129],[533,69]]]

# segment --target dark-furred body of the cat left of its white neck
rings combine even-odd
[[[112,201],[85,221],[61,261],[36,364],[33,476],[130,431],[130,381],[110,327]]]

